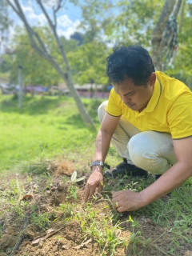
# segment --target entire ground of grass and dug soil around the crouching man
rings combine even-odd
[[[83,99],[97,127],[101,100]],[[140,210],[119,214],[111,190],[141,191],[154,182],[105,180],[82,205],[96,134],[72,98],[26,96],[22,110],[1,96],[0,256],[191,256],[192,178]],[[106,162],[120,161],[111,146]],[[80,182],[71,179],[74,170]]]

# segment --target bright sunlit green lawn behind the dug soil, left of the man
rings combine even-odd
[[[96,126],[102,100],[83,99]],[[94,148],[96,134],[86,129],[73,98],[25,96],[23,108],[13,95],[0,95],[0,171],[22,161]]]

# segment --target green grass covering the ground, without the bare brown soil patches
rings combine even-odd
[[[101,102],[102,100],[83,99],[97,127],[97,109]],[[72,98],[26,96],[24,106],[19,110],[17,99],[13,99],[12,95],[1,95],[0,111],[0,172],[14,170],[14,174],[16,170],[17,173],[13,175],[13,179],[1,180],[0,198],[3,210],[0,218],[5,219],[9,225],[10,221],[15,223],[14,218],[22,225],[29,209],[32,210],[30,223],[44,231],[56,222],[60,225],[62,222],[65,224],[76,220],[82,230],[81,239],[94,238],[103,256],[115,255],[118,246],[127,245],[132,248],[132,252],[129,251],[127,255],[137,256],[148,253],[152,255],[153,250],[153,255],[180,256],[185,249],[191,248],[192,178],[172,191],[170,198],[159,199],[132,213],[118,214],[111,207],[108,192],[127,189],[139,192],[154,182],[153,175],[146,180],[124,177],[105,181],[106,193],[103,198],[88,202],[83,207],[78,194],[81,186],[69,182],[66,176],[59,179],[61,184],[68,186],[65,191],[66,202],[61,202],[58,206],[50,203],[49,207],[53,207],[53,212],[42,210],[39,213],[36,209],[40,209],[42,203],[38,200],[20,202],[23,195],[30,193],[34,197],[38,194],[38,198],[41,195],[47,199],[47,190],[51,194],[52,186],[58,186],[58,178],[54,180],[52,170],[47,170],[50,163],[54,170],[54,159],[62,158],[73,162],[79,166],[78,174],[82,174],[81,170],[86,172],[93,158],[96,134],[86,129]],[[46,161],[47,158],[50,158],[50,162]],[[119,160],[114,148],[110,147],[106,162],[115,166]],[[19,180],[22,174],[26,177],[24,182]],[[60,190],[56,195],[59,194]],[[57,215],[60,211],[61,218]],[[117,237],[116,231],[121,229],[123,232],[130,231],[130,237],[127,237],[127,233],[125,239]],[[1,232],[0,230],[0,238]],[[161,241],[162,244],[158,243]],[[150,251],[150,248],[153,250]]]

